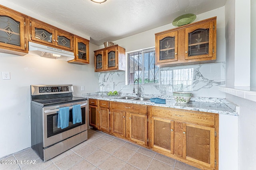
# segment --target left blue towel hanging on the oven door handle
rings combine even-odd
[[[64,129],[68,127],[69,107],[61,107],[58,113],[58,128]]]

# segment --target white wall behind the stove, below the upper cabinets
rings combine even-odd
[[[73,96],[98,90],[98,73],[94,72],[94,52],[90,44],[90,64],[37,56],[15,56],[0,53],[0,73],[10,72],[10,80],[0,78],[0,158],[31,147],[30,85],[73,84]],[[81,91],[84,86],[84,91]]]

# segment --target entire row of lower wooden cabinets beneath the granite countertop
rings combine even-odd
[[[218,170],[218,114],[105,100],[89,104],[94,128],[202,170]]]

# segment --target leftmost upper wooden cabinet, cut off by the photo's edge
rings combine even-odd
[[[26,16],[0,5],[0,53],[28,53]]]

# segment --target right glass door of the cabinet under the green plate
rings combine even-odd
[[[206,22],[186,28],[185,31],[185,59],[200,59],[212,57],[213,47],[213,22]]]

